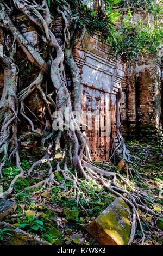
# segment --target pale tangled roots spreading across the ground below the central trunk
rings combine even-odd
[[[63,188],[64,192],[62,193],[65,193],[67,197],[74,198],[74,199],[76,198],[77,204],[80,206],[80,208],[82,208],[86,212],[86,214],[88,214],[87,208],[89,208],[89,202],[86,198],[87,187],[82,186],[81,184],[82,180],[79,178],[76,170],[74,173],[72,173],[70,170],[68,170],[68,167],[66,164],[64,166],[64,169],[62,169],[60,168],[60,162],[59,162],[57,164],[55,172],[61,173],[62,176],[64,177],[64,181],[58,182],[54,179],[55,175],[53,173],[51,161],[53,161],[53,158],[47,161],[47,164],[49,167],[48,177],[45,180],[42,180],[37,184],[26,188],[26,190],[33,190],[34,188],[42,185],[45,187],[46,185],[52,186],[54,184],[56,186],[59,186],[60,188]],[[36,162],[35,166],[38,166],[40,163],[41,163],[40,161]],[[131,220],[131,233],[130,233],[130,239],[129,239],[128,245],[130,245],[134,241],[134,236],[136,231],[136,221],[139,223],[140,229],[143,234],[142,239],[139,241],[139,243],[143,245],[145,240],[145,233],[143,231],[139,212],[137,211],[137,209],[143,210],[147,212],[147,214],[153,215],[155,217],[159,216],[154,211],[152,211],[147,206],[145,206],[145,204],[142,203],[142,199],[145,198],[147,194],[131,187],[130,184],[121,175],[117,173],[108,172],[104,169],[99,169],[97,167],[92,168],[90,163],[87,163],[84,161],[83,161],[83,170],[85,173],[86,180],[93,180],[95,182],[95,186],[100,186],[100,187],[102,186],[106,188],[111,193],[115,194],[118,197],[121,197],[124,200],[124,202],[126,202],[129,205],[130,210],[132,212],[132,220]],[[115,179],[115,176],[117,176],[117,178],[120,179],[123,182],[123,184],[127,185],[127,187],[129,188],[129,190],[131,190],[131,192],[124,190],[124,188],[122,188],[122,185],[120,187],[120,185],[118,185],[117,183],[117,179]],[[67,188],[67,189],[65,188],[64,185],[66,181],[72,182],[71,188]],[[97,197],[98,197],[98,194],[97,194]],[[85,206],[82,204],[83,201],[86,203],[87,208],[85,208]]]

